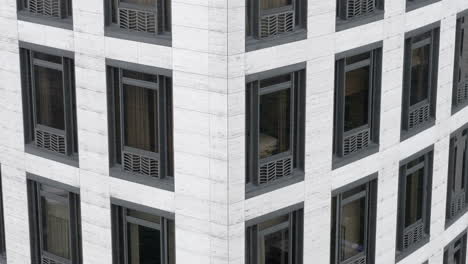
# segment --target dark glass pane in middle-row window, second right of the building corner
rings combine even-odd
[[[369,66],[346,72],[345,131],[369,122],[369,78]]]

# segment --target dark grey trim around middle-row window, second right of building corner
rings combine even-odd
[[[382,75],[382,47],[383,42],[378,41],[355,49],[343,51],[335,55],[335,107],[334,107],[334,133],[333,133],[333,158],[332,169],[343,167],[347,164],[375,154],[379,151],[380,133],[380,98]],[[344,79],[346,74],[345,60],[362,53],[370,52],[371,85],[369,85],[369,130],[370,142],[365,149],[358,150],[344,156],[342,152],[344,131]]]

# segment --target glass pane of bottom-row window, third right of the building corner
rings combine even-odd
[[[405,227],[416,223],[423,213],[424,168],[406,176]]]

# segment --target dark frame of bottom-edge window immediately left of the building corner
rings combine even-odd
[[[127,215],[128,210],[134,210],[145,214],[150,214],[160,218],[159,225],[144,219],[135,218]],[[169,241],[169,228],[175,228],[174,213],[165,212],[159,209],[150,208],[144,205],[134,204],[132,202],[120,200],[111,197],[111,223],[112,223],[112,263],[128,264],[128,247],[127,240],[127,224],[133,223],[160,231],[161,245],[161,264],[171,264],[175,262],[175,233]],[[175,232],[175,230],[174,230]],[[170,248],[169,243],[173,243],[174,252],[170,254],[167,250]],[[169,255],[173,256],[170,260]]]

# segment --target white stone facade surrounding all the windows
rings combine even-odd
[[[0,163],[9,264],[29,264],[26,172],[81,193],[84,264],[112,263],[110,197],[174,212],[178,264],[242,264],[245,221],[304,202],[304,263],[330,262],[331,191],[378,172],[377,264],[395,263],[399,161],[434,144],[430,242],[400,263],[442,263],[444,246],[468,227],[445,229],[455,24],[466,0],[405,12],[335,32],[334,0],[308,1],[307,39],[245,52],[245,0],[173,0],[172,47],[104,36],[102,0],[73,0],[73,30],[17,19],[0,0]],[[400,142],[405,32],[441,22],[436,125]],[[25,153],[18,42],[75,53],[79,168]],[[335,54],[383,41],[380,151],[332,170]],[[173,71],[175,191],[109,176],[105,59]],[[305,179],[245,199],[245,76],[307,62]],[[33,263],[35,264],[35,263]]]

